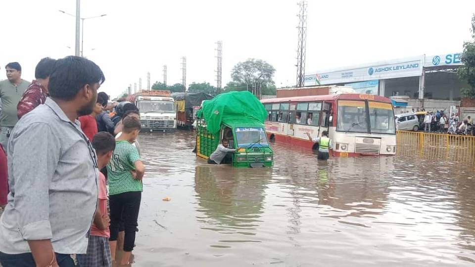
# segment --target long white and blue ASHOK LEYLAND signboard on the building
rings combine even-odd
[[[306,73],[304,86],[332,85],[368,80],[421,76],[423,57],[378,62],[339,71]]]

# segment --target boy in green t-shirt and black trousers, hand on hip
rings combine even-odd
[[[140,201],[142,197],[142,177],[145,168],[139,152],[132,143],[139,136],[141,124],[135,117],[126,117],[122,134],[116,139],[112,159],[107,165],[110,205],[110,250],[115,259],[119,225],[125,225],[124,253],[120,264],[127,265],[132,255],[138,226]]]

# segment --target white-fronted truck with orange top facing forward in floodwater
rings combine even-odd
[[[127,97],[139,108],[142,131],[175,131],[177,111],[169,90],[142,90]]]

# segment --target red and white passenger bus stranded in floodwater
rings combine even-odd
[[[394,155],[396,128],[389,98],[335,94],[261,100],[270,140],[316,149],[312,137],[328,131],[334,156]]]

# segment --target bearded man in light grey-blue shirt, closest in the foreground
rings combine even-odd
[[[58,59],[49,77],[50,97],[11,133],[10,193],[0,220],[3,267],[75,266],[76,254],[87,252],[98,166],[76,118],[92,112],[104,80],[86,58]]]

